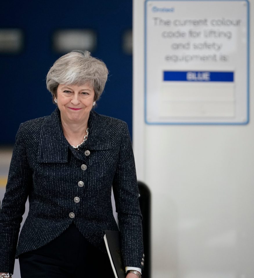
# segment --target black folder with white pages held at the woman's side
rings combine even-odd
[[[120,249],[120,232],[105,230],[104,241],[115,277],[125,278]]]

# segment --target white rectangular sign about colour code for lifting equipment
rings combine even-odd
[[[248,1],[145,1],[148,124],[246,124]]]

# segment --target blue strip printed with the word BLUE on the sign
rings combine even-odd
[[[234,82],[234,72],[164,71],[164,81]]]

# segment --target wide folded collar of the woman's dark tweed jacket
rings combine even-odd
[[[110,135],[107,124],[103,121],[103,116],[91,110],[88,119],[88,127],[89,136],[85,143],[86,149],[108,150],[111,148]],[[68,162],[68,149],[73,151],[73,148],[64,137],[60,110],[56,108],[49,117],[46,117],[42,124],[38,162],[66,163]],[[80,158],[80,156],[77,158]]]

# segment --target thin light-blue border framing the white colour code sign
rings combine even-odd
[[[147,28],[146,28],[146,20],[147,20],[147,3],[148,2],[156,2],[156,1],[221,1],[221,0],[145,0],[144,2],[144,11],[145,11],[145,17],[144,17],[144,24],[145,24],[145,28],[144,28],[144,45],[145,45],[145,51],[144,51],[144,66],[145,66],[145,123],[148,125],[246,125],[249,123],[249,106],[250,106],[250,95],[249,95],[249,88],[250,88],[250,4],[249,4],[249,0],[224,0],[224,1],[228,1],[228,2],[246,2],[247,4],[247,80],[246,80],[246,84],[247,84],[247,119],[245,122],[168,122],[168,123],[161,123],[161,122],[149,122],[147,121],[147,61],[146,61],[146,56],[147,56],[147,45],[146,45],[146,41],[147,41]]]

